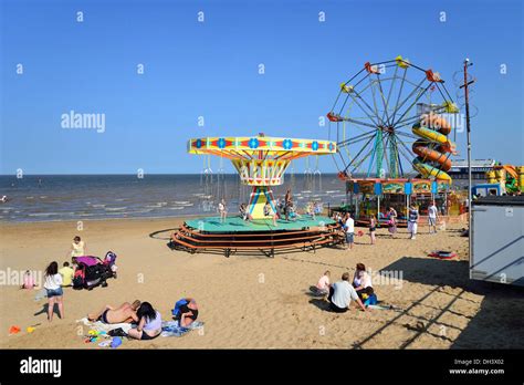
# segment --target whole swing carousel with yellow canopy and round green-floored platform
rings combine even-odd
[[[283,184],[291,162],[312,155],[335,154],[336,143],[316,139],[268,137],[203,137],[188,142],[188,153],[230,159],[240,181],[252,191],[244,218],[207,217],[187,220],[172,236],[171,246],[189,252],[219,251],[227,257],[237,251],[315,250],[343,240],[340,227],[323,216],[274,218],[281,208],[272,188]],[[210,168],[210,167],[208,167]],[[209,171],[209,170],[208,170]]]

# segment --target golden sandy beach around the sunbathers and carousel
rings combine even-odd
[[[120,348],[503,348],[524,345],[522,290],[482,284],[468,277],[468,238],[461,226],[430,236],[421,226],[416,240],[406,229],[389,239],[379,229],[377,244],[356,238],[354,250],[321,249],[264,256],[189,254],[167,247],[169,231],[182,219],[118,219],[84,222],[1,223],[0,269],[43,270],[69,260],[72,238],[81,235],[90,254],[118,254],[118,278],[93,291],[65,289],[65,319],[52,323],[42,312],[45,300],[17,285],[0,288],[0,346],[7,348],[102,348],[86,344],[75,321],[105,304],[139,299],[170,316],[174,303],[192,296],[200,305],[202,331],[182,337],[125,341]],[[455,260],[427,254],[448,249]],[[332,281],[363,262],[374,272],[401,273],[395,284],[375,283],[379,300],[399,310],[345,314],[326,311],[308,295],[325,270]],[[401,279],[400,279],[401,278]],[[384,283],[384,282],[382,282]],[[386,282],[387,283],[387,282]],[[11,325],[21,332],[9,335]],[[33,333],[28,326],[35,325]],[[78,329],[80,327],[80,329]]]

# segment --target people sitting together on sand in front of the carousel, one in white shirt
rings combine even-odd
[[[327,270],[316,284],[317,294],[327,295],[329,309],[336,313],[348,311],[352,301],[366,311],[364,302],[375,293],[371,277],[366,271],[364,263],[357,263],[352,283],[349,283],[349,273],[345,272],[342,274],[340,281],[331,283],[331,272]]]

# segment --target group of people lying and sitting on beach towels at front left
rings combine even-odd
[[[185,298],[177,302],[174,319],[180,326],[188,327],[198,318],[198,305],[195,299]],[[161,314],[149,302],[138,300],[133,303],[124,302],[118,308],[105,305],[99,311],[90,313],[87,319],[105,324],[132,323],[127,335],[135,340],[154,340],[161,333]]]

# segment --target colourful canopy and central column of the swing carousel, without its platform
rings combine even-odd
[[[268,137],[202,137],[188,142],[188,153],[216,155],[231,160],[242,184],[253,186],[249,212],[253,219],[264,219],[264,206],[277,212],[271,186],[284,183],[283,176],[293,159],[311,155],[335,154],[335,142]]]

